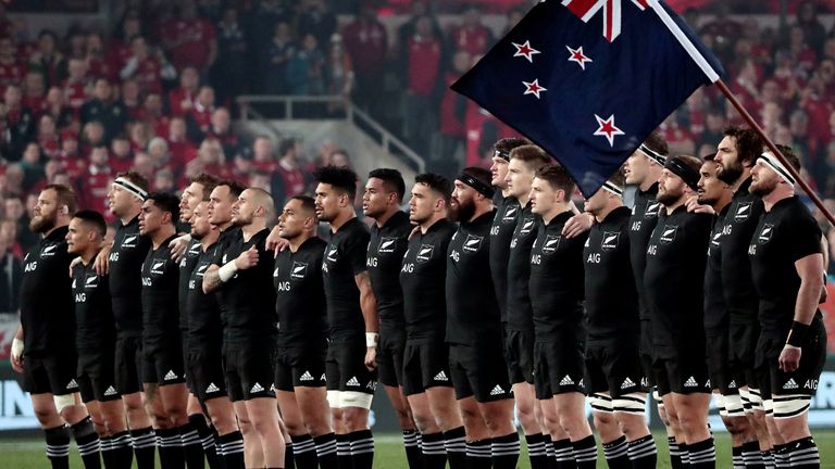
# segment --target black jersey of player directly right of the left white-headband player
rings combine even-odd
[[[166,239],[142,263],[142,338],[164,340],[179,332],[179,266]]]

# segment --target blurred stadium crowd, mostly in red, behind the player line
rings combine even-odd
[[[68,183],[82,207],[107,212],[116,173],[133,167],[152,189],[174,191],[209,172],[281,203],[310,188],[311,172],[332,157],[350,164],[338,142],[238,135],[241,93],[350,96],[429,169],[489,166],[491,143],[512,129],[448,88],[496,40],[481,11],[462,3],[441,28],[437,2],[389,3],[409,14],[395,37],[374,2],[128,2],[112,30],[74,26],[63,36],[30,30],[0,5],[2,262],[18,266],[37,241],[28,219],[46,183]],[[781,28],[731,17],[724,2],[685,15],[722,59],[736,96],[775,142],[798,152],[835,208],[835,29],[818,17],[830,8],[793,4]],[[339,24],[334,9],[354,16]],[[524,11],[508,11],[507,27]],[[661,130],[673,153],[701,155],[738,124],[718,91],[703,89]],[[14,295],[0,299],[0,309],[16,309]]]

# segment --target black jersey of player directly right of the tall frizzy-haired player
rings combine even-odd
[[[403,324],[403,292],[397,281],[397,272],[400,271],[410,232],[412,225],[406,212],[396,212],[383,227],[372,225],[365,261],[371,289],[377,297],[379,321],[398,328]]]

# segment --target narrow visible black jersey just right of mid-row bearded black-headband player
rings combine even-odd
[[[490,227],[490,275],[496,289],[502,322],[508,320],[508,258],[510,240],[522,214],[522,206],[514,197],[502,197],[501,191],[494,198],[496,216]]]

